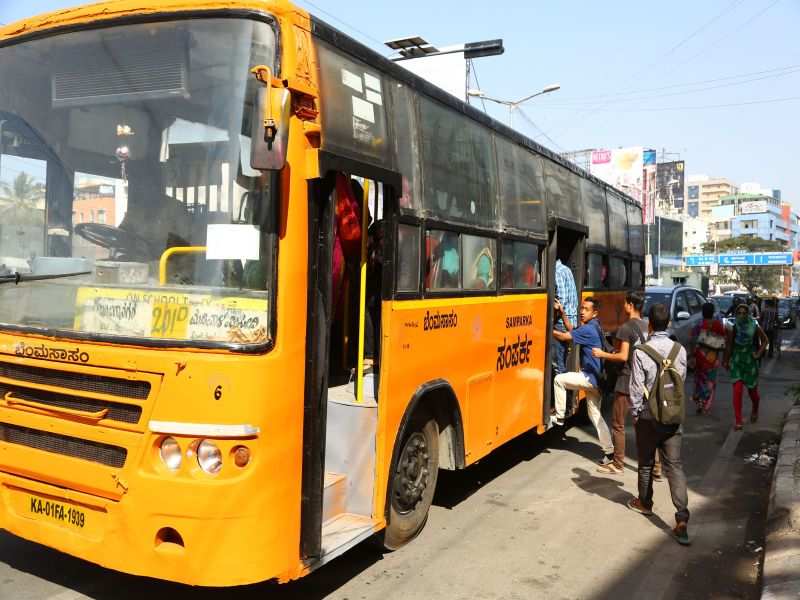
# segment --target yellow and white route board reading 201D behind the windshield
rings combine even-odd
[[[241,344],[267,340],[266,298],[84,287],[76,304],[75,329],[88,333]]]

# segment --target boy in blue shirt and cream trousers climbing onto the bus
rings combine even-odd
[[[586,404],[589,409],[589,418],[592,420],[600,446],[603,448],[603,459],[601,464],[608,463],[614,456],[614,445],[611,442],[611,432],[608,430],[603,415],[600,412],[601,395],[597,389],[597,378],[602,369],[600,359],[592,354],[592,349],[602,348],[603,335],[600,328],[600,321],[597,320],[597,310],[599,303],[591,296],[586,298],[581,304],[580,318],[581,326],[572,329],[572,323],[568,318],[562,321],[566,331],[553,330],[553,337],[560,342],[575,342],[581,349],[581,370],[578,372],[561,373],[555,379],[555,422],[558,425],[564,424],[565,411],[567,408],[567,390],[583,390],[586,393]],[[562,311],[564,314],[564,311]]]

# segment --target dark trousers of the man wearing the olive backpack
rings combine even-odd
[[[653,505],[653,465],[656,450],[660,451],[664,475],[669,482],[669,493],[675,505],[675,521],[689,520],[689,499],[686,475],[681,462],[683,434],[677,425],[662,425],[652,419],[636,421],[636,450],[639,454],[639,500],[645,506]]]

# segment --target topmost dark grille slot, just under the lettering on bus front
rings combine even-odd
[[[42,367],[17,365],[2,361],[0,361],[0,377],[82,392],[135,398],[137,400],[144,400],[150,394],[150,382],[148,381],[132,381],[103,375],[70,373],[57,369],[44,369]]]

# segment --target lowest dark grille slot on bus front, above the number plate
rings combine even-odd
[[[36,448],[53,454],[81,458],[116,468],[122,468],[125,465],[125,458],[128,455],[128,451],[119,446],[90,442],[9,423],[0,423],[0,441]]]

